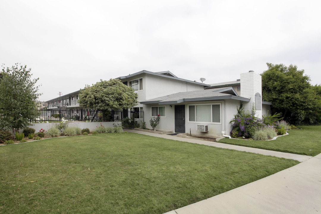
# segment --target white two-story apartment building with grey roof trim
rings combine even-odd
[[[151,118],[160,115],[159,130],[198,135],[229,134],[230,120],[241,102],[247,110],[254,105],[258,117],[267,114],[271,105],[262,102],[261,76],[253,71],[242,73],[240,80],[212,85],[181,79],[169,71],[144,70],[117,79],[132,87],[138,95],[138,104],[126,111],[143,111],[139,117],[143,117],[147,127]],[[87,115],[88,109],[77,103],[78,94],[79,91],[75,91],[48,100],[48,108],[65,105],[75,114]]]

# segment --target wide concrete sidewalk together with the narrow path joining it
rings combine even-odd
[[[180,138],[130,130],[166,139],[199,143],[220,148],[235,149],[299,160],[302,163],[240,186],[203,201],[187,205],[166,214],[217,213],[317,213],[321,212],[321,154],[310,157],[274,152],[211,141]]]

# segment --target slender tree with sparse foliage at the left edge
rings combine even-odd
[[[30,119],[37,116],[36,100],[40,96],[39,80],[31,78],[31,68],[16,63],[0,74],[0,128],[10,129],[13,134],[30,125]]]

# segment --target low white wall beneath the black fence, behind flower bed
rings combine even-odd
[[[100,123],[105,127],[113,127],[113,124],[121,124],[121,122],[70,122],[68,126],[78,126],[81,129],[89,128],[91,132],[95,131],[96,126],[100,126]],[[56,123],[33,123],[30,128],[33,128],[36,130],[36,133],[39,132],[40,129],[45,129],[46,131],[52,127]],[[22,130],[19,130],[20,133],[22,133]]]

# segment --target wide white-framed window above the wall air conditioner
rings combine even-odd
[[[221,123],[221,103],[188,105],[188,121]]]

